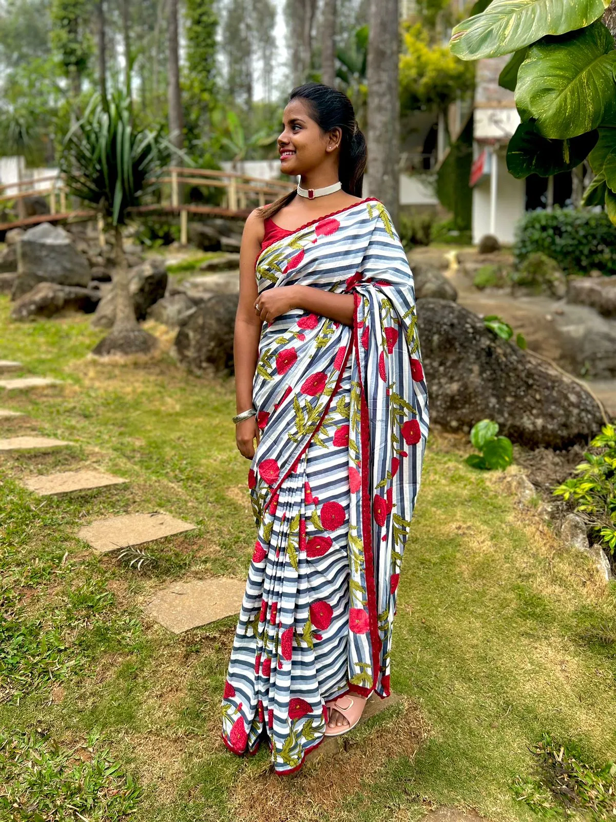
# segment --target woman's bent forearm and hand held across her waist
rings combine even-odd
[[[273,322],[277,316],[292,308],[303,308],[342,322],[345,326],[352,326],[355,313],[352,294],[333,294],[311,285],[281,285],[278,289],[268,289],[261,294],[259,305],[260,319],[264,322]]]

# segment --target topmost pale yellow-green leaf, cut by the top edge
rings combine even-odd
[[[590,25],[608,6],[609,0],[492,0],[454,28],[451,50],[462,60],[511,54],[545,35]]]

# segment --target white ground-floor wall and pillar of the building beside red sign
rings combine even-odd
[[[499,188],[496,205],[496,236],[506,245],[513,243],[518,219],[526,205],[526,181],[508,173],[506,150],[499,151]],[[486,174],[473,188],[472,240],[480,241],[490,233],[490,175]]]

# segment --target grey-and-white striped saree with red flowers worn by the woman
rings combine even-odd
[[[402,556],[429,405],[407,257],[374,197],[257,258],[259,293],[352,293],[353,326],[294,309],[264,325],[248,473],[258,537],[225,681],[222,737],[269,742],[289,774],[323,741],[325,701],[389,695]]]

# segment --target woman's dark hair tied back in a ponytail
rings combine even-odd
[[[305,83],[297,85],[289,95],[292,99],[306,100],[310,117],[324,132],[333,128],[342,130],[338,162],[338,178],[342,182],[342,191],[361,197],[364,184],[365,163],[368,151],[365,136],[357,125],[353,105],[347,95],[323,83]],[[292,191],[260,210],[264,217],[271,217],[290,203],[297,192]]]

